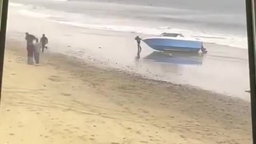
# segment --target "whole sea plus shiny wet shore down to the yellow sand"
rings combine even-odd
[[[45,33],[50,39],[47,52],[250,98],[244,92],[249,90],[249,72],[243,1],[11,0],[9,6],[8,35],[25,41],[26,31]],[[169,31],[215,44],[206,43],[209,53],[198,57],[157,53],[141,43],[141,59],[135,59],[136,35]]]

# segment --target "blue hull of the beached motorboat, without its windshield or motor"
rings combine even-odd
[[[146,38],[142,39],[149,47],[157,51],[180,51],[196,53],[201,50],[202,42],[180,39]]]

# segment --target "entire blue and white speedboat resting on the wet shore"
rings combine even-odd
[[[163,33],[158,37],[143,38],[149,47],[157,51],[206,52],[203,42],[198,39],[185,38],[178,33]]]

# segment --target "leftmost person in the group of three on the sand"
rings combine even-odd
[[[25,37],[26,41],[27,41],[27,56],[28,56],[28,65],[33,65],[34,64],[34,60],[33,60],[33,56],[34,56],[34,44],[33,41],[36,39],[36,37],[34,35],[30,35],[29,33],[26,33],[26,37]]]

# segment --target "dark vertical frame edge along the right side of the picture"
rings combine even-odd
[[[255,53],[254,53],[254,36],[253,36],[253,0],[245,0],[246,3],[246,26],[247,26],[247,43],[249,54],[249,73],[250,73],[250,91],[251,91],[251,115],[252,115],[252,138],[253,143],[256,144],[256,98],[255,98]]]

